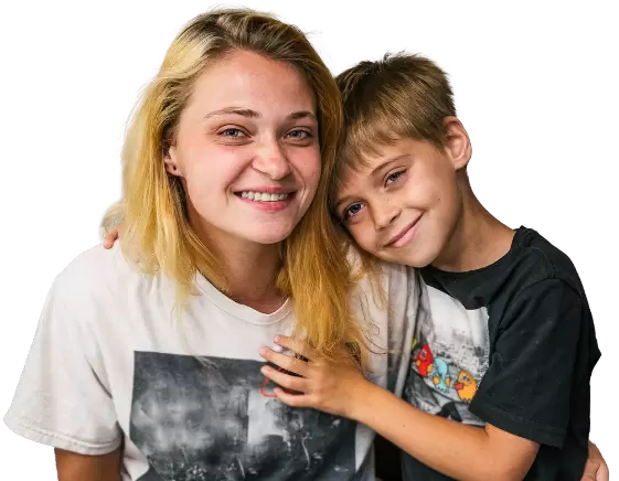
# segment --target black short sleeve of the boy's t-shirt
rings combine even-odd
[[[567,282],[541,280],[508,304],[470,410],[541,445],[563,446],[586,302]],[[580,353],[583,354],[583,353]]]

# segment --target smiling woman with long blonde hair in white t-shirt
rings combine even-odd
[[[54,448],[60,481],[372,480],[372,431],[286,407],[260,374],[282,332],[329,359],[345,343],[394,391],[408,363],[391,325],[412,327],[414,279],[385,268],[388,316],[367,279],[351,302],[312,203],[342,122],[332,72],[270,12],[218,4],[174,33],[119,135],[122,239],[54,279],[4,423]]]

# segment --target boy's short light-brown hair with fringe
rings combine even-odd
[[[337,76],[342,95],[344,127],[338,164],[330,179],[332,210],[349,169],[365,164],[366,156],[378,156],[381,147],[413,138],[442,149],[442,120],[455,116],[463,121],[456,77],[431,54],[407,46],[363,57],[342,67]],[[345,233],[345,229],[341,229]],[[354,243],[346,234],[349,243]],[[361,253],[363,265],[373,258]]]

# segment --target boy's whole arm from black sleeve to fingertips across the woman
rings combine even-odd
[[[452,478],[522,479],[540,443],[563,442],[578,341],[588,329],[583,300],[565,282],[537,282],[525,292],[501,325],[490,368],[471,404],[471,411],[487,421],[485,429],[424,413],[345,363],[312,361],[311,354],[306,355],[307,365],[291,365],[282,354],[266,349],[265,359],[305,378],[273,370],[265,374],[282,387],[305,393],[295,396],[277,389],[284,403],[351,417]]]

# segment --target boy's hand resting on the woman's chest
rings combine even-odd
[[[313,407],[337,416],[352,417],[352,409],[357,399],[363,397],[369,381],[363,377],[345,348],[338,351],[334,361],[328,361],[286,335],[277,335],[275,343],[307,359],[306,362],[269,348],[260,349],[260,355],[265,360],[300,376],[263,366],[262,373],[280,386],[274,389],[279,400],[289,406]],[[298,394],[290,394],[285,389]]]

